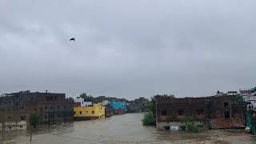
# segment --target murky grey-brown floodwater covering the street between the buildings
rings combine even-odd
[[[28,131],[0,133],[2,144],[83,144],[83,143],[256,143],[256,136],[243,130],[207,130],[204,133],[158,131],[142,126],[143,114],[123,114],[92,121],[46,126],[33,134]]]

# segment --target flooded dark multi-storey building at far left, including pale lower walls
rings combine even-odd
[[[66,98],[65,94],[39,93],[30,90],[18,93],[3,94],[0,97],[0,122],[2,129],[14,130],[14,123],[30,123],[30,113],[36,111],[40,118],[39,123],[67,122],[73,119],[72,98]]]

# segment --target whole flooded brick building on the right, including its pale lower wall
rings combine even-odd
[[[182,129],[184,117],[194,117],[196,125],[206,128],[244,127],[243,105],[235,94],[203,98],[156,96],[154,100],[159,130],[170,129],[170,126]]]

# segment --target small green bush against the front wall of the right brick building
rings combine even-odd
[[[202,132],[204,128],[202,126],[196,126],[194,124],[195,118],[194,117],[182,117],[180,118],[182,123],[185,123],[186,130],[189,132]]]

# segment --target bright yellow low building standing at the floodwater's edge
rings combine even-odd
[[[93,106],[74,107],[74,118],[77,120],[105,118],[105,106],[94,104]]]

